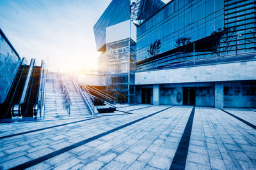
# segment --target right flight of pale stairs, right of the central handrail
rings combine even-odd
[[[84,103],[83,97],[79,92],[76,91],[74,83],[71,78],[67,74],[63,74],[63,81],[65,85],[67,85],[68,94],[71,100],[71,109],[70,112],[72,116],[85,116],[90,115],[90,111],[88,110],[86,104]]]

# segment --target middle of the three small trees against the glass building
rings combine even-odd
[[[189,46],[188,44],[191,43],[191,38],[188,37],[182,37],[178,38],[176,40],[176,47],[178,48],[179,57],[183,57],[183,60],[185,62],[185,57],[188,57],[189,55]]]

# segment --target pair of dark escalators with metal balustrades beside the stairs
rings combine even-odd
[[[45,70],[42,72],[42,66],[43,61],[39,67],[36,66],[35,59],[31,59],[29,65],[20,64],[8,96],[0,104],[0,123],[36,119],[38,107],[42,108],[44,105],[42,89],[45,78],[42,78],[42,73],[45,74]]]

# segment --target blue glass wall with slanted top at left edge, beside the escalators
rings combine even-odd
[[[4,102],[21,60],[0,29],[0,103]]]

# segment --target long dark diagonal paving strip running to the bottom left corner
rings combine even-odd
[[[39,164],[39,163],[41,163],[41,162],[44,162],[45,160],[51,159],[52,157],[56,157],[56,156],[60,155],[61,153],[68,152],[68,151],[70,151],[70,150],[72,150],[72,149],[74,149],[74,148],[77,148],[77,147],[82,146],[82,145],[84,145],[84,144],[86,144],[86,143],[89,143],[89,142],[91,142],[91,141],[94,141],[95,139],[99,139],[99,138],[101,138],[101,137],[103,137],[103,136],[106,136],[106,135],[111,134],[111,133],[113,133],[113,132],[115,132],[115,131],[118,131],[118,130],[120,130],[120,129],[123,129],[123,128],[129,126],[129,125],[132,125],[132,124],[135,124],[135,123],[137,123],[137,122],[140,122],[141,120],[144,120],[145,118],[152,117],[152,116],[156,115],[157,113],[160,113],[160,112],[162,112],[162,111],[168,110],[168,109],[170,109],[170,108],[172,108],[172,107],[173,107],[173,106],[170,106],[170,107],[165,108],[165,109],[163,109],[163,110],[156,111],[155,113],[152,113],[152,114],[147,115],[147,116],[142,117],[142,118],[138,118],[137,120],[134,120],[134,121],[129,122],[129,123],[127,123],[127,124],[120,125],[120,126],[114,128],[114,129],[111,129],[111,130],[109,130],[109,131],[103,132],[103,133],[101,133],[101,134],[97,134],[96,136],[93,136],[93,137],[91,137],[91,138],[84,139],[83,141],[80,141],[80,142],[78,142],[78,143],[74,143],[73,145],[67,146],[67,147],[62,148],[62,149],[60,149],[60,150],[56,150],[55,152],[49,153],[49,154],[44,155],[44,156],[42,156],[42,157],[38,157],[37,159],[30,160],[30,161],[28,161],[28,162],[25,162],[24,164],[20,164],[19,166],[12,167],[11,169],[26,169],[26,168],[28,168],[28,167],[35,166],[36,164]]]

